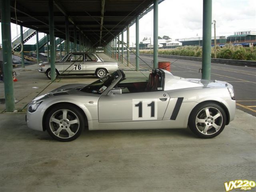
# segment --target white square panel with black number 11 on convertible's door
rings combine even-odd
[[[157,99],[133,99],[132,120],[156,120]]]

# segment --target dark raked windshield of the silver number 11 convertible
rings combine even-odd
[[[104,92],[104,90],[106,90],[106,88],[108,88],[108,86],[110,86],[118,77],[118,72],[111,73],[93,82],[92,84],[81,88],[80,91],[102,94],[102,92]]]

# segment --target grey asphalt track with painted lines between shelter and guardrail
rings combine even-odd
[[[140,58],[143,60],[140,60],[140,67],[151,70],[153,58],[148,56],[140,56]],[[158,61],[171,62],[171,72],[175,76],[202,77],[201,72],[198,72],[202,68],[201,62],[170,58],[158,58]],[[130,54],[130,62],[136,63],[134,54]],[[212,63],[211,79],[232,84],[235,91],[236,107],[256,116],[256,68]]]

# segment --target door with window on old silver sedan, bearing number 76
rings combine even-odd
[[[83,74],[85,72],[84,54],[73,53],[63,63],[63,74]]]

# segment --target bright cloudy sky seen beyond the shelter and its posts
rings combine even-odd
[[[158,5],[158,36],[166,35],[172,40],[202,37],[202,15],[203,0],[164,0]],[[212,0],[212,20],[216,20],[216,36],[227,37],[237,31],[256,31],[256,0]],[[11,24],[12,39],[17,36],[16,29],[16,24]],[[135,30],[134,24],[130,27],[130,46],[136,42]],[[39,39],[43,36],[43,33],[39,33]],[[140,42],[144,37],[153,38],[153,10],[139,20]],[[36,36],[26,42],[35,43]]]

